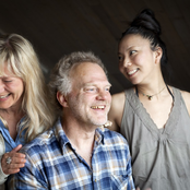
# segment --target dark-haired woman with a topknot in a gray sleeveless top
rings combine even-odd
[[[118,46],[119,69],[133,87],[112,95],[109,120],[129,142],[135,187],[190,189],[190,93],[169,86],[159,23],[143,10]]]

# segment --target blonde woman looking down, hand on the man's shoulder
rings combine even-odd
[[[19,150],[52,126],[52,112],[31,43],[16,34],[0,36],[1,186],[24,167],[25,156]]]

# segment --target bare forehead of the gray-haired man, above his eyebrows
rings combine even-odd
[[[70,73],[73,82],[76,83],[93,83],[107,82],[107,76],[104,70],[96,63],[84,62],[75,66]]]

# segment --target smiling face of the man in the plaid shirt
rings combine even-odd
[[[71,115],[82,124],[105,124],[111,96],[104,70],[98,64],[85,62],[75,66],[70,76],[72,91],[68,95],[68,106]]]

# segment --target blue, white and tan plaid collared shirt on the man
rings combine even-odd
[[[92,167],[75,152],[60,120],[22,152],[27,162],[10,189],[134,190],[127,141],[108,129],[96,130]]]

